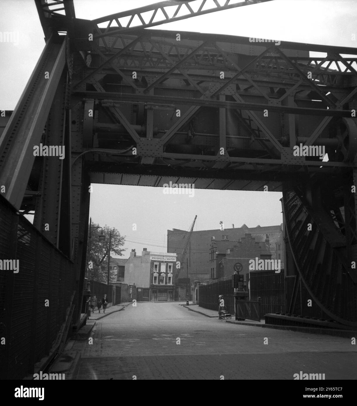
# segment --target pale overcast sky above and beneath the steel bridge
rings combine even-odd
[[[154,2],[74,0],[74,5],[76,17],[95,19]],[[356,21],[355,0],[274,0],[153,28],[356,48],[357,42],[353,40],[353,35],[357,37]],[[33,0],[1,0],[0,32],[6,31],[19,32],[19,42],[0,43],[0,110],[13,110],[45,44]],[[234,227],[243,223],[255,227],[282,222],[279,201],[282,194],[277,192],[195,189],[195,197],[191,198],[163,195],[161,188],[93,186],[92,221],[116,227],[127,235],[125,257],[131,248],[162,251],[167,229],[188,229],[196,214],[195,230],[218,231],[220,220],[226,228],[232,223]],[[133,223],[137,231],[132,230]]]

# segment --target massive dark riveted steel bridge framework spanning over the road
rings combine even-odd
[[[357,49],[149,28],[261,2],[90,21],[72,0],[35,0],[45,47],[0,135],[0,254],[20,260],[0,271],[4,377],[33,373],[80,323],[95,183],[282,192],[286,317],[357,326]],[[64,159],[34,156],[40,145]]]

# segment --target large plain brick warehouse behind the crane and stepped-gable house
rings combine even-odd
[[[251,234],[252,238],[255,238],[255,242],[259,243],[265,242],[268,235],[271,259],[281,259],[281,261],[284,260],[282,224],[269,227],[260,227],[258,225],[257,227],[252,228],[248,228],[245,224],[243,224],[240,228],[225,228],[224,231],[219,229],[193,231],[191,241],[187,249],[188,276],[191,279],[191,282],[195,280],[203,282],[212,277],[211,268],[213,268],[213,266],[211,264],[209,255],[212,237],[215,237],[216,240],[221,241],[222,235],[225,235],[226,240],[229,240],[230,242],[226,249],[234,249],[234,244],[237,244],[241,238],[245,238],[245,234]],[[185,245],[187,235],[188,231],[179,229],[168,230],[167,251],[171,253],[178,253],[178,260],[180,260],[180,254]],[[186,261],[184,266],[185,265]],[[214,269],[217,270],[217,266]],[[215,272],[215,275],[216,274],[217,273]]]

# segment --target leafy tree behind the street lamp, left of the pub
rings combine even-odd
[[[91,281],[107,283],[108,275],[108,254],[109,254],[109,235],[112,231],[110,254],[122,256],[126,248],[120,248],[125,243],[125,236],[120,235],[116,228],[110,228],[107,225],[103,227],[105,241],[99,241],[101,228],[99,224],[92,223],[91,238],[89,238],[88,230],[88,251],[87,251],[87,270],[86,277]],[[110,276],[114,275],[114,271],[110,272]]]

